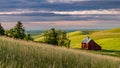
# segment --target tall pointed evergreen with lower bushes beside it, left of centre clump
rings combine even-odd
[[[18,21],[14,28],[5,31],[5,35],[16,39],[32,40],[30,34],[25,32],[22,22]]]

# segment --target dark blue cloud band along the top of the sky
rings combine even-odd
[[[49,9],[56,11],[68,10],[91,10],[120,8],[120,1],[81,1],[73,3],[48,3],[42,0],[3,0],[0,1],[0,8],[13,9]],[[0,9],[0,11],[2,11]]]

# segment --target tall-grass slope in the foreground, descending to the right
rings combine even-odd
[[[0,68],[119,68],[120,58],[0,37]]]

